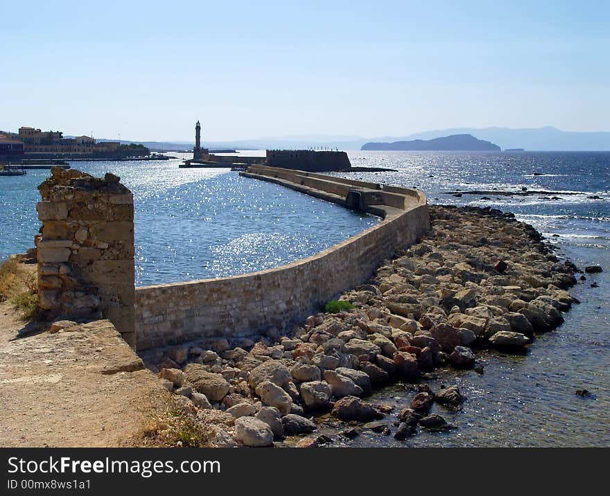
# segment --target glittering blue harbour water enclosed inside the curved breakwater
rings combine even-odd
[[[180,169],[179,162],[72,163],[92,175],[113,172],[134,193],[137,285],[277,267],[378,222],[228,169]],[[0,260],[33,246],[36,186],[48,174],[0,178]]]

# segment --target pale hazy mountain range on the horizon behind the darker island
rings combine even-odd
[[[573,132],[561,131],[555,127],[532,129],[512,129],[509,127],[460,127],[409,134],[408,136],[341,136],[311,134],[301,136],[275,136],[260,139],[234,141],[206,141],[207,148],[229,148],[264,150],[265,148],[338,148],[339,150],[360,150],[365,143],[394,141],[430,140],[453,134],[471,134],[477,139],[496,143],[503,150],[525,148],[525,150],[557,151],[610,151],[610,132]],[[116,141],[116,140],[98,140]],[[121,143],[142,143],[152,150],[189,150],[193,141],[125,141]]]

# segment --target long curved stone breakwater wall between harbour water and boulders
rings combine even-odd
[[[430,229],[426,197],[417,191],[384,192],[378,184],[265,166],[250,167],[245,175],[343,205],[351,189],[377,190],[383,204],[367,210],[384,220],[314,256],[275,269],[136,288],[139,351],[285,328],[366,281],[384,259]]]

